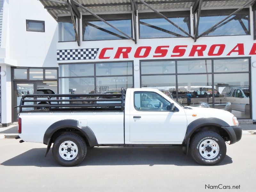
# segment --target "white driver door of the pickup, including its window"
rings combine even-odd
[[[156,92],[133,94],[130,106],[131,143],[183,141],[187,129],[187,117],[183,109],[170,111],[170,101]]]

